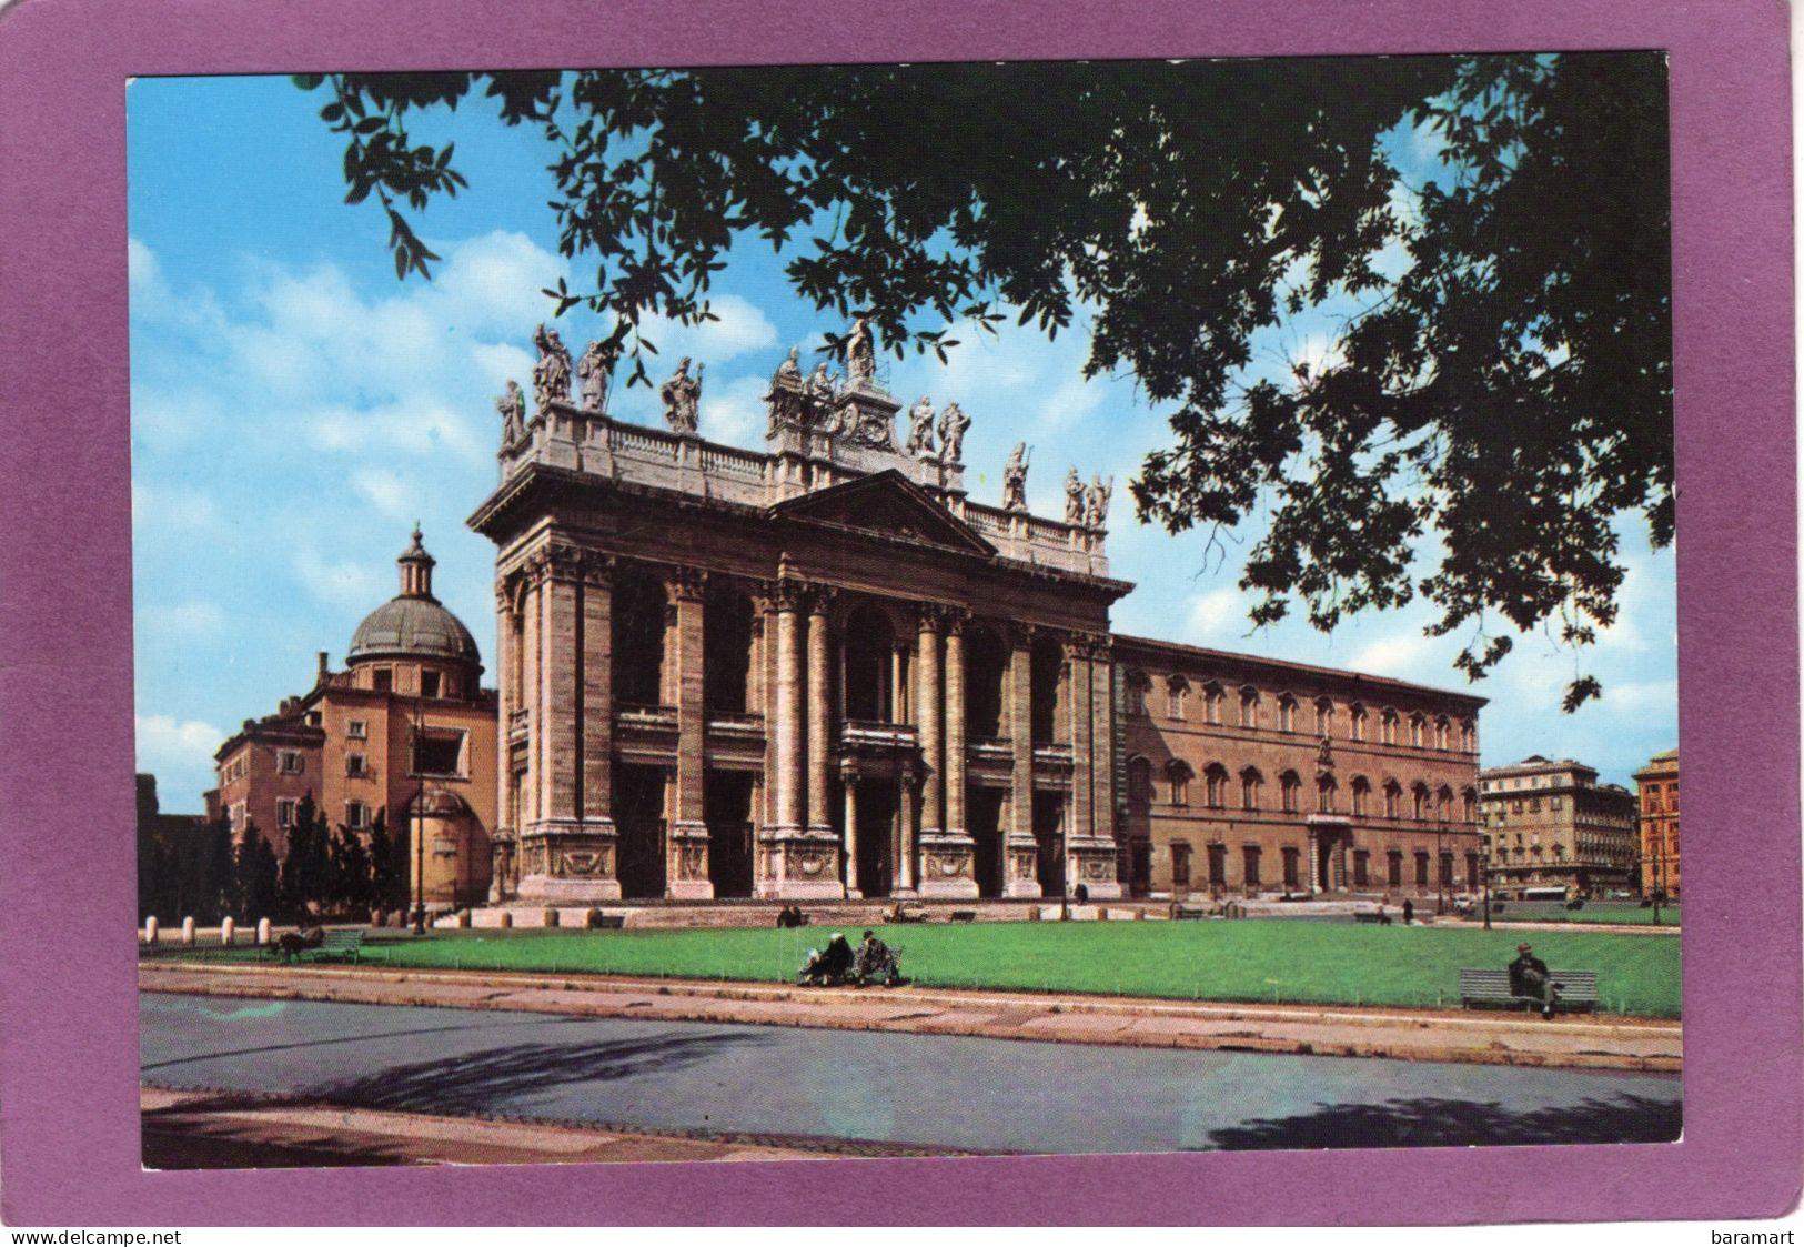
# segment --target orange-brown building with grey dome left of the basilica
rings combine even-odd
[[[276,857],[287,828],[310,796],[337,828],[368,832],[386,810],[408,854],[410,888],[424,868],[433,908],[489,895],[494,828],[496,693],[482,688],[482,659],[469,628],[433,597],[433,556],[413,531],[397,559],[400,594],[352,633],[345,670],[319,653],[314,688],[274,715],[247,718],[213,756],[233,830],[256,828]]]

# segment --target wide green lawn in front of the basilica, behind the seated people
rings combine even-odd
[[[384,933],[386,935],[386,933]],[[846,933],[853,942],[859,931]],[[1503,967],[1521,931],[1353,922],[985,922],[880,928],[929,987],[1010,987],[1176,1000],[1458,1005],[1461,965]],[[667,975],[783,982],[826,929],[438,931],[366,944],[408,967]],[[1595,969],[1609,1012],[1676,1018],[1680,940],[1537,931],[1555,969]],[[211,956],[251,956],[215,949]]]

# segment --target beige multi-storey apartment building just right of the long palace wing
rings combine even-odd
[[[1490,836],[1490,886],[1499,895],[1564,888],[1600,897],[1631,888],[1634,794],[1600,785],[1595,767],[1530,754],[1479,772],[1479,803]]]

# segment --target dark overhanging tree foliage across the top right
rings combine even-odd
[[[1423,594],[1470,628],[1595,641],[1616,615],[1618,516],[1672,540],[1665,60],[1658,54],[305,76],[375,195],[399,276],[437,256],[408,211],[455,195],[431,106],[538,128],[565,256],[548,291],[612,323],[709,319],[749,236],[794,289],[864,314],[897,356],[1012,312],[1090,310],[1086,374],[1174,404],[1133,482],[1142,518],[1268,511],[1254,623],[1301,599],[1330,630]],[[1405,182],[1396,144],[1432,152]],[[1250,379],[1252,337],[1351,301],[1328,361]],[[830,339],[830,348],[841,343]],[[1432,561],[1418,577],[1418,565]],[[1573,709],[1591,677],[1566,693]]]

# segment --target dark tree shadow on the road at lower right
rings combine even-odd
[[[1681,1106],[1645,1095],[1510,1112],[1497,1103],[1393,1099],[1382,1104],[1321,1104],[1313,1113],[1250,1121],[1209,1132],[1210,1144],[1268,1148],[1465,1148],[1548,1142],[1672,1142]]]

